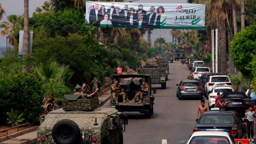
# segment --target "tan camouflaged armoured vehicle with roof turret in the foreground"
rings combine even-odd
[[[98,108],[98,97],[67,94],[62,103],[63,108],[42,118],[37,143],[123,144],[127,115],[115,108]]]

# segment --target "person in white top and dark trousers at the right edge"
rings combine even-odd
[[[249,109],[246,110],[246,113],[245,113],[245,119],[248,119],[248,123],[247,123],[247,136],[248,136],[248,139],[253,142],[253,136],[254,136],[254,132],[253,132],[253,128],[254,128],[254,117],[256,116],[255,115],[255,111],[253,111],[252,109],[253,107],[250,106]],[[251,136],[251,138],[250,138]]]

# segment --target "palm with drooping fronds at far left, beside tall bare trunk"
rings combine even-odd
[[[7,17],[7,21],[3,21],[0,25],[0,28],[3,28],[3,30],[0,33],[1,36],[3,37],[4,35],[7,35],[9,38],[10,45],[14,45],[15,28],[17,28],[17,30],[21,29],[21,26],[20,26],[21,19],[22,19],[21,15],[12,14]]]

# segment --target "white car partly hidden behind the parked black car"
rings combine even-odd
[[[223,92],[234,91],[232,86],[218,86],[215,85],[208,95],[209,110],[215,107],[215,99],[217,98],[217,93],[222,94]]]

